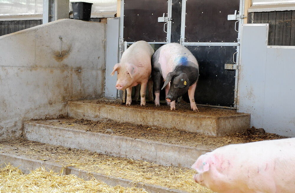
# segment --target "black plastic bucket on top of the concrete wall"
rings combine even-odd
[[[92,4],[93,3],[73,2],[72,7],[74,19],[90,21]]]

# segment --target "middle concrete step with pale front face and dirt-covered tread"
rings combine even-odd
[[[200,155],[224,144],[204,145],[200,141],[204,136],[179,130],[170,132],[164,128],[158,130],[112,121],[92,125],[89,127],[87,121],[75,119],[29,121],[24,123],[24,137],[41,143],[186,168],[190,168]]]

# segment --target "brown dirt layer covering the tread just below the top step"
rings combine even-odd
[[[40,120],[34,122],[51,125],[53,127],[72,128],[89,132],[147,139],[183,146],[204,147],[212,150],[232,143],[247,143],[286,138],[273,133],[263,132],[264,130],[262,131],[262,129],[256,129],[254,127],[248,129],[244,133],[234,133],[227,136],[206,136],[177,129],[149,127],[144,125],[134,125],[132,123],[119,123],[110,120],[91,121],[63,118],[59,120]]]

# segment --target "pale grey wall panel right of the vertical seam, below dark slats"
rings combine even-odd
[[[268,48],[263,127],[295,136],[295,49]]]

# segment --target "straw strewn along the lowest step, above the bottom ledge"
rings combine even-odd
[[[87,150],[70,149],[22,139],[7,144],[2,143],[2,145],[3,148],[0,149],[0,152],[3,153],[10,152],[31,159],[55,162],[88,172],[112,175],[118,178],[130,179],[134,182],[144,182],[170,189],[212,193],[212,191],[194,182],[194,170],[183,167],[161,166],[141,160],[107,156]]]

